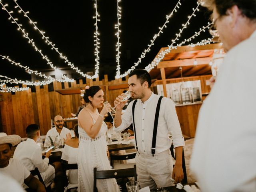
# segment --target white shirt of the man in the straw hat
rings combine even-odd
[[[0,173],[14,178],[20,186],[22,186],[24,180],[30,176],[30,171],[26,169],[22,162],[13,158],[10,158],[8,166],[0,168]]]

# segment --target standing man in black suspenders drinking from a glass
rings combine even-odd
[[[137,69],[132,71],[129,74],[128,85],[134,100],[130,102],[126,112],[121,116],[122,108],[127,101],[122,102],[122,96],[116,98],[114,101],[116,106],[114,130],[121,132],[132,124],[132,105],[137,99],[138,102],[134,109],[134,135],[138,147],[136,168],[141,187],[149,186],[150,189],[153,189],[171,186],[173,184],[171,178],[174,178],[176,182],[181,182],[183,179],[182,147],[184,146],[184,138],[174,102],[168,98],[162,99],[156,134],[156,149],[153,155],[151,147],[154,119],[160,96],[151,92],[151,77],[146,70]],[[172,133],[176,151],[176,163],[173,169],[172,156],[170,154],[172,140],[168,137],[168,132]]]

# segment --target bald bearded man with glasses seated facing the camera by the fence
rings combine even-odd
[[[46,137],[45,137],[45,142],[44,142],[44,147],[52,146],[52,142],[56,139],[60,139],[61,144],[64,143],[66,140],[67,134],[71,134],[70,130],[66,127],[63,127],[63,118],[60,115],[57,115],[54,117],[54,125],[55,127],[51,128],[48,130]],[[50,138],[52,139],[52,142]]]

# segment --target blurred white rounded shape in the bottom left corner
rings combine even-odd
[[[0,172],[0,191],[3,192],[25,192],[19,183],[10,176]]]

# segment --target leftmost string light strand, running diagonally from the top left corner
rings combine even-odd
[[[10,11],[10,12],[9,12],[9,11],[6,9],[6,6],[8,6],[8,4],[3,5],[2,2],[0,2],[0,4],[2,5],[2,10],[5,10],[5,11],[9,14],[9,16],[10,16],[10,17],[8,18],[8,20],[11,20],[11,19],[12,19],[12,23],[15,23],[15,24],[18,26],[17,30],[21,30],[21,31],[22,31],[23,36],[24,36],[26,39],[28,39],[28,43],[30,43],[30,44],[35,48],[35,50],[40,53],[40,55],[42,56],[42,58],[47,61],[47,64],[50,65],[51,68],[56,69],[56,67],[55,67],[55,66],[52,64],[52,62],[50,62],[50,60],[48,59],[48,56],[42,54],[42,50],[39,50],[39,49],[37,48],[37,46],[36,46],[35,43],[34,43],[34,40],[29,38],[28,33],[25,31],[25,29],[24,29],[24,28],[21,28],[22,24],[18,24],[18,22],[17,22],[18,19],[12,17],[11,14],[13,13],[13,11]],[[65,76],[64,74],[62,74],[62,78],[64,79],[65,82],[74,82],[73,79],[68,78],[68,77]]]

